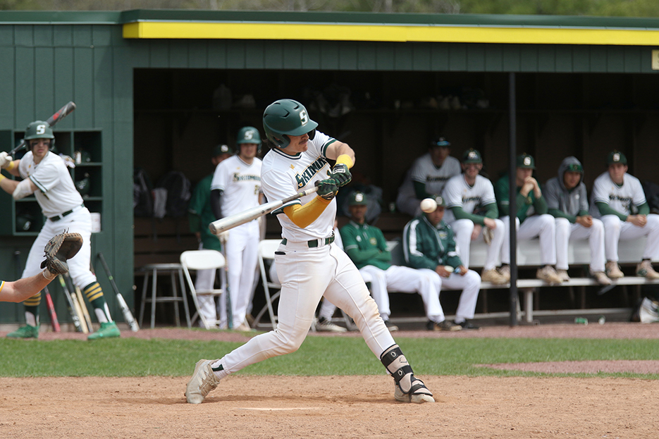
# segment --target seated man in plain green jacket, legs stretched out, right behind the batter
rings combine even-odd
[[[391,310],[388,290],[418,292],[424,301],[428,319],[443,321],[440,317],[443,314],[439,304],[439,288],[433,273],[392,265],[382,230],[369,225],[365,220],[368,204],[366,194],[354,192],[350,197],[350,223],[341,228],[345,252],[359,268],[362,278],[370,278],[371,295],[386,326],[389,330],[398,330],[398,326],[389,321]]]

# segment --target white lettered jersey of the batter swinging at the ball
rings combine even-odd
[[[316,131],[314,139],[309,139],[309,142],[307,142],[307,151],[305,152],[290,156],[277,149],[271,149],[263,159],[261,171],[263,192],[268,201],[290,197],[297,192],[314,187],[318,180],[326,180],[330,175],[331,167],[327,163],[325,154],[327,147],[335,141],[333,137]],[[297,227],[290,221],[288,216],[283,214],[285,206],[307,204],[314,197],[316,197],[315,193],[309,194],[306,197],[284,204],[281,208],[273,211],[272,214],[277,215],[281,223],[282,237],[291,242],[306,242],[332,235],[336,215],[336,199],[332,199],[332,202],[321,216],[307,225],[307,228]]]

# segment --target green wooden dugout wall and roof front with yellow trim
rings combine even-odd
[[[167,35],[159,35],[156,31],[164,23],[178,27],[168,28]],[[219,27],[211,36],[200,36],[190,32],[191,23]],[[240,32],[241,25],[256,26],[252,36],[235,38],[245,35],[235,33]],[[268,25],[281,27],[269,33]],[[314,30],[346,25],[357,37],[352,41],[327,39],[322,32],[300,37],[295,27],[299,25],[316,26]],[[390,32],[383,34],[382,29]],[[149,34],[152,30],[156,33]],[[407,32],[405,41],[387,36],[402,30]],[[546,39],[526,44],[519,38],[536,38],[529,30],[545,32],[541,37]],[[94,235],[94,255],[106,255],[121,292],[131,303],[134,150],[140,148],[154,156],[164,154],[154,144],[133,144],[135,69],[362,72],[366,81],[369,72],[536,73],[544,75],[537,78],[545,78],[548,83],[553,73],[635,75],[631,82],[655,94],[658,87],[653,76],[657,71],[653,70],[653,56],[657,55],[653,50],[659,48],[658,34],[658,19],[2,11],[0,132],[24,130],[31,120],[47,118],[69,100],[75,101],[78,109],[56,126],[57,131],[101,130],[103,230]],[[333,34],[328,31],[326,35]],[[529,89],[538,91],[538,87]],[[608,93],[605,81],[602,92]],[[648,111],[643,117],[655,120],[655,107],[648,102],[651,99],[645,101],[642,110]],[[377,154],[372,151],[367,156]],[[8,214],[8,199],[8,194],[0,194],[0,215]],[[24,258],[32,237],[2,231],[0,235],[0,278],[13,279],[13,253],[18,249]],[[106,276],[93,257],[92,262],[113,316],[121,321]],[[58,312],[66,317],[66,309]],[[22,321],[21,313],[22,307],[0,304],[0,323]]]

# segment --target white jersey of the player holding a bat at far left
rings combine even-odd
[[[46,217],[62,214],[82,204],[82,197],[73,185],[66,164],[53,152],[48,152],[39,164],[35,164],[32,152],[27,152],[18,163],[18,173],[22,178],[30,178],[37,186],[35,197]]]

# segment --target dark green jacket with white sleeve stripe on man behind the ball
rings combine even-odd
[[[434,271],[438,265],[453,268],[462,265],[455,251],[453,230],[444,221],[434,226],[425,214],[421,214],[405,225],[402,242],[405,264],[412,268],[429,268]]]

